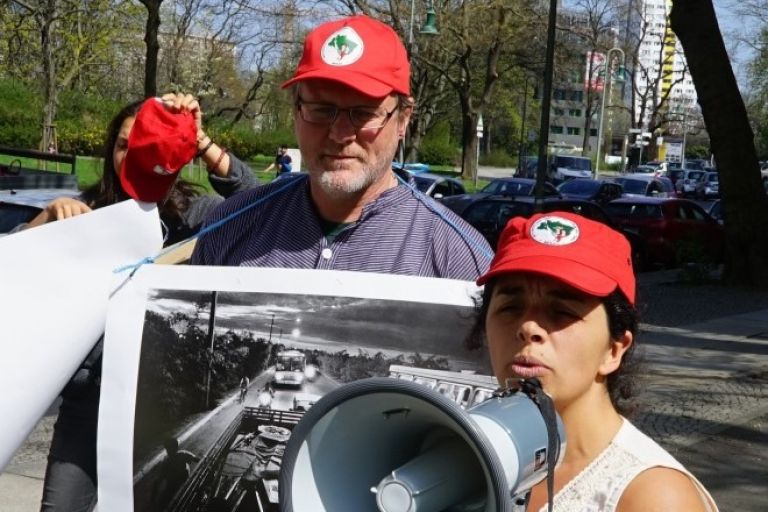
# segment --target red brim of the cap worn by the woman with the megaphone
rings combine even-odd
[[[610,295],[619,284],[601,271],[595,270],[583,263],[553,256],[523,256],[513,258],[496,265],[496,270],[480,276],[477,285],[482,286],[491,278],[516,272],[532,272],[562,281],[579,291],[606,297]]]

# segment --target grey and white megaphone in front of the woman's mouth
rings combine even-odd
[[[341,386],[293,430],[280,472],[280,510],[515,510],[565,453],[561,419],[537,405],[549,397],[540,387],[538,396],[525,388],[497,392],[465,411],[405,380]]]

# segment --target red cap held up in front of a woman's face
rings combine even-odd
[[[160,98],[144,102],[128,135],[120,184],[134,199],[162,201],[178,172],[197,153],[197,124],[190,112],[171,112]]]

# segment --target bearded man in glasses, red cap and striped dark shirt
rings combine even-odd
[[[487,242],[392,170],[413,110],[397,34],[366,16],[309,33],[293,77],[296,138],[307,175],[225,202],[192,262],[473,280]],[[407,177],[405,178],[407,180]],[[246,208],[246,210],[243,210]]]

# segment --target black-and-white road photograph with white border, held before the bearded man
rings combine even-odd
[[[131,447],[118,459],[130,460],[132,499],[124,496],[127,475],[111,474],[100,481],[123,480],[115,488],[121,491],[102,485],[102,506],[277,511],[291,431],[329,391],[389,376],[466,407],[493,389],[485,353],[464,347],[474,311],[468,283],[357,272],[314,272],[307,280],[305,271],[291,270],[149,270],[131,283],[137,290],[123,290],[137,299],[130,308],[115,315],[120,301],[110,308],[105,365],[134,373],[120,387],[135,384],[122,389],[133,400],[113,395],[117,401],[102,408],[100,447],[102,437],[112,439],[111,450]],[[128,314],[136,316],[130,331],[139,339],[128,340],[134,335],[124,329],[113,338],[110,320],[119,315],[122,323]],[[126,343],[140,349],[107,360],[116,355],[108,354],[112,346]],[[103,405],[109,389],[105,383]],[[109,414],[118,407],[121,415]],[[131,428],[122,422],[116,432],[117,417],[132,418]],[[110,464],[113,455],[100,451],[107,460],[100,471],[118,465]]]

